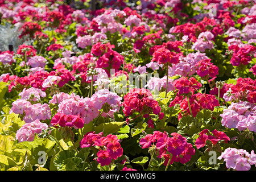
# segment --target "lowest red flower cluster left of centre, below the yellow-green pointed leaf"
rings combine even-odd
[[[109,134],[106,137],[102,135],[102,132],[95,134],[95,131],[86,133],[80,141],[80,147],[97,147],[99,149],[97,152],[97,162],[101,166],[108,166],[112,160],[116,160],[123,155],[123,148],[116,135]]]

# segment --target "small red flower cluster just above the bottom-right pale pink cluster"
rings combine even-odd
[[[215,129],[212,131],[212,134],[210,134],[208,129],[204,129],[203,131],[201,131],[199,133],[199,138],[197,138],[195,142],[196,148],[199,149],[201,147],[204,147],[205,144],[207,143],[207,140],[210,140],[213,146],[216,146],[218,141],[223,140],[225,143],[228,143],[228,141],[230,140],[229,137],[223,131],[217,131]],[[210,150],[210,148],[208,148],[208,150]]]

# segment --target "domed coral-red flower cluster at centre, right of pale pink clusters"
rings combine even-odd
[[[123,113],[129,116],[135,112],[143,115],[144,118],[148,118],[151,113],[159,115],[159,118],[163,118],[163,113],[160,113],[161,107],[158,102],[153,99],[150,90],[130,89],[129,93],[123,96]]]

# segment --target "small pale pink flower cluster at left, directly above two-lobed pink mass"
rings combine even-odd
[[[22,92],[19,93],[19,96],[24,100],[32,100],[36,102],[39,101],[41,97],[46,97],[46,93],[41,89],[31,87],[29,89],[24,88]]]

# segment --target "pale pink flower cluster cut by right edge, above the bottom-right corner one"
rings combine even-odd
[[[250,102],[238,102],[224,109],[220,114],[222,126],[229,129],[236,128],[239,131],[250,130],[256,132],[256,106]]]

